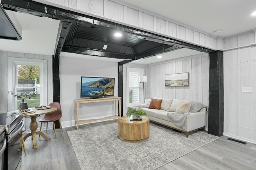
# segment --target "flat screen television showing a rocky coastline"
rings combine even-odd
[[[80,97],[106,98],[114,96],[115,78],[81,77]]]

